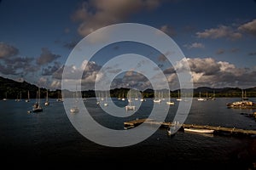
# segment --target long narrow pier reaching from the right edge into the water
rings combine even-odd
[[[219,134],[233,134],[233,135],[256,135],[256,130],[247,130],[241,129],[236,127],[216,127],[216,126],[209,126],[209,125],[195,125],[195,124],[179,124],[178,122],[156,122],[152,119],[137,119],[131,122],[124,122],[125,128],[129,127],[137,127],[138,125],[146,123],[149,125],[160,125],[160,127],[171,127],[176,126],[180,127],[179,130],[183,131],[183,128],[203,128],[203,129],[212,129],[214,133]]]

